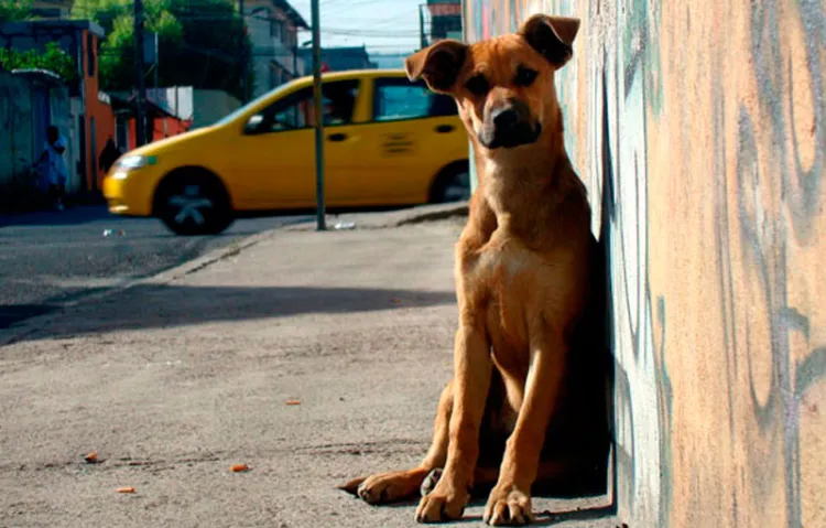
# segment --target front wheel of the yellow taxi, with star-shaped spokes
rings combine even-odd
[[[166,227],[181,236],[217,235],[233,220],[224,185],[200,171],[167,176],[157,191],[155,209]]]

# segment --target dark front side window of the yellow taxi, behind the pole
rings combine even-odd
[[[358,95],[358,80],[336,80],[322,86],[324,126],[335,127],[352,122]],[[250,117],[244,128],[247,134],[261,134],[301,130],[315,127],[313,88],[301,90],[278,100]]]

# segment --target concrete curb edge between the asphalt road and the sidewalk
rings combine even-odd
[[[175,266],[174,268],[170,268],[165,271],[161,271],[160,273],[155,273],[150,277],[142,277],[140,279],[126,280],[122,283],[115,285],[112,288],[109,288],[107,290],[104,290],[101,292],[90,293],[88,295],[81,297],[80,299],[76,301],[70,301],[65,304],[62,304],[59,308],[55,309],[55,311],[50,312],[47,314],[26,319],[25,321],[22,321],[19,324],[13,324],[8,328],[0,330],[0,333],[6,334],[6,335],[0,336],[0,348],[2,348],[3,346],[12,345],[19,341],[22,341],[23,338],[30,335],[36,334],[43,326],[47,325],[52,321],[57,320],[58,317],[62,317],[70,309],[77,308],[79,305],[85,305],[87,303],[98,302],[102,299],[121,293],[137,285],[167,284],[174,280],[181,279],[182,277],[185,277],[191,273],[196,273],[205,268],[208,268],[215,262],[219,262],[224,259],[235,257],[236,255],[240,254],[244,249],[249,249],[252,246],[256,246],[257,244],[260,244],[263,240],[274,237],[279,231],[284,230],[285,227],[286,226],[276,227],[273,229],[268,229],[263,233],[257,233],[254,235],[250,235],[249,237],[242,238],[241,240],[235,244],[230,244],[227,247],[215,249],[213,251],[209,251],[206,255],[202,255],[198,258],[195,258],[182,265]]]

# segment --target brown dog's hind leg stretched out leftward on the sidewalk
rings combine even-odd
[[[393,503],[419,495],[425,477],[433,470],[445,466],[452,411],[453,381],[442,390],[433,427],[433,442],[419,467],[354,478],[339,486],[339,489],[358,495],[369,504]]]

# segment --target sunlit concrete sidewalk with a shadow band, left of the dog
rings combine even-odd
[[[415,504],[335,486],[427,449],[461,224],[274,231],[21,334],[0,348],[0,526],[416,526]]]

